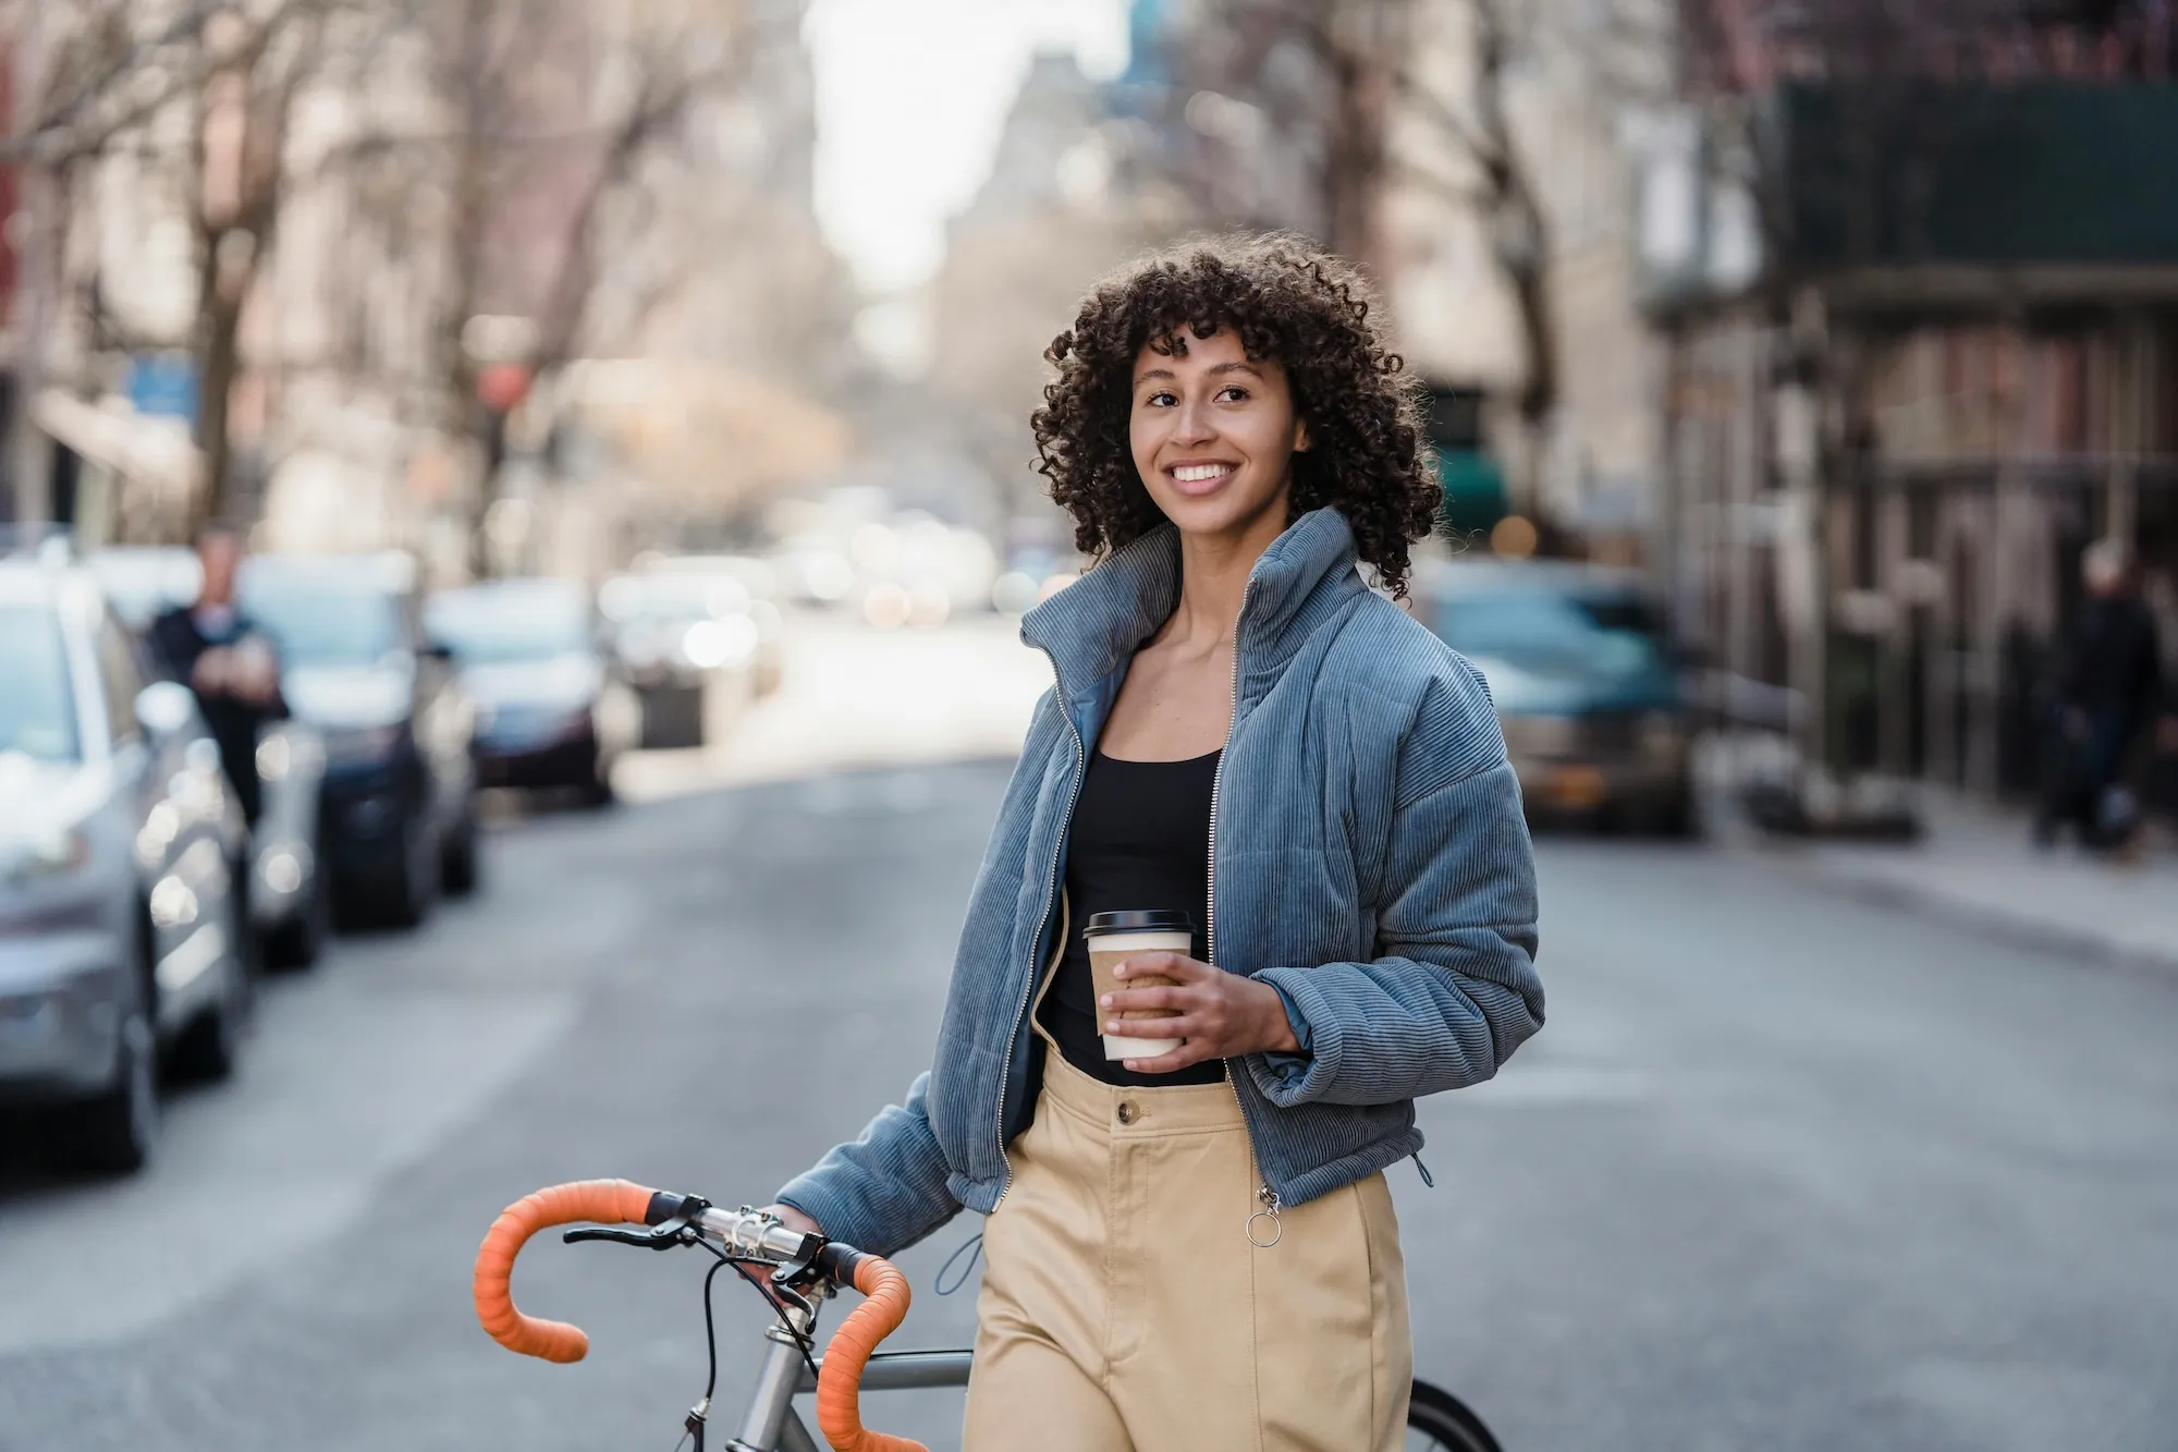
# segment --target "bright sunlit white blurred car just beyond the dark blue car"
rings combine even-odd
[[[619,671],[643,702],[643,746],[701,746],[712,687],[749,680],[762,630],[749,591],[703,573],[612,576],[597,606]]]

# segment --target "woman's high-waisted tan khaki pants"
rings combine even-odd
[[[1394,1452],[1414,1347],[1383,1175],[1278,1217],[1228,1084],[1045,1060],[984,1223],[965,1452]],[[1270,1238],[1270,1221],[1257,1221]]]

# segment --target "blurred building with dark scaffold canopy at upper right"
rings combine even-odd
[[[1812,778],[2026,789],[2082,545],[2178,643],[2167,7],[1690,13],[1642,185],[1679,628]]]

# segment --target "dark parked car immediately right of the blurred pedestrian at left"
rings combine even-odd
[[[473,706],[420,634],[403,554],[250,556],[242,606],[272,634],[281,693],[325,746],[320,822],[344,918],[416,924],[477,883]]]

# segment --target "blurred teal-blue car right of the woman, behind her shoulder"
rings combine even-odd
[[[1490,682],[1529,815],[1692,828],[1686,695],[1638,576],[1455,560],[1416,613]]]

